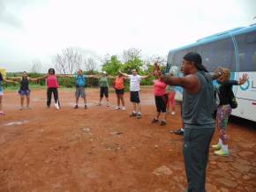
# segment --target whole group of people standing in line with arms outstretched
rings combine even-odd
[[[230,70],[219,68],[215,70],[213,75],[210,75],[206,67],[202,64],[202,58],[198,53],[190,52],[184,55],[182,61],[182,72],[184,77],[176,77],[170,73],[162,74],[161,71],[154,71],[146,76],[139,76],[136,70],[132,70],[132,75],[125,74],[121,71],[114,81],[114,87],[117,93],[116,109],[125,110],[124,107],[124,80],[130,80],[130,100],[132,102],[132,114],[130,116],[141,118],[140,99],[139,99],[139,84],[141,79],[153,76],[154,80],[154,100],[156,106],[156,114],[152,123],[159,122],[160,114],[163,115],[160,125],[166,124],[167,108],[171,106],[170,114],[175,114],[175,90],[173,86],[181,86],[184,88],[182,101],[182,119],[184,129],[184,166],[187,176],[188,192],[205,192],[206,169],[209,153],[209,144],[215,132],[215,92],[213,80],[219,83],[218,94],[220,98],[219,106],[217,107],[216,122],[219,129],[219,142],[214,144],[215,154],[227,156],[230,154],[227,141],[227,122],[231,114],[230,98],[233,96],[232,85],[243,85],[248,80],[247,74],[243,74],[238,81],[230,80]],[[52,93],[54,94],[56,108],[59,109],[59,99],[57,92],[57,78],[59,77],[74,77],[76,79],[76,105],[78,108],[79,97],[82,97],[87,109],[86,99],[86,79],[99,78],[100,84],[100,100],[97,104],[102,105],[103,96],[106,97],[107,107],[109,107],[109,82],[105,72],[102,76],[91,75],[85,76],[82,70],[78,74],[73,75],[56,75],[54,69],[49,69],[49,74],[41,78],[28,78],[26,72],[22,78],[11,78],[12,81],[20,82],[19,94],[21,98],[21,109],[24,108],[24,98],[26,96],[26,107],[29,108],[29,81],[38,81],[43,78],[47,80],[47,106],[50,106]],[[0,113],[2,111],[2,82],[12,82],[9,79],[4,79],[0,76]],[[202,102],[203,101],[203,102]]]

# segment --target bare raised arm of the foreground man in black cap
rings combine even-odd
[[[195,75],[187,75],[183,78],[162,76],[161,80],[167,85],[182,86],[184,89],[187,90],[187,92],[190,92],[190,93],[199,92],[201,87],[200,79],[197,78]]]

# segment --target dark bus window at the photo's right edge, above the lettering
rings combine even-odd
[[[240,71],[255,71],[256,70],[256,34],[255,32],[240,34],[236,36],[239,69]]]

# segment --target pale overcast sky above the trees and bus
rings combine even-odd
[[[167,55],[213,33],[256,23],[256,0],[0,0],[0,68],[43,70],[62,49]]]

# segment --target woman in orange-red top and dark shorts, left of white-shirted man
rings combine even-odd
[[[124,107],[124,76],[121,73],[118,73],[118,76],[115,80],[115,86],[114,88],[116,89],[117,93],[117,107],[116,110],[121,109],[121,101],[122,101],[122,110],[125,110]]]

